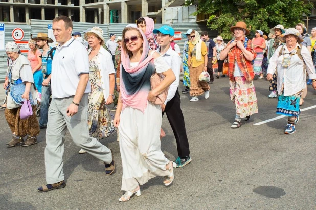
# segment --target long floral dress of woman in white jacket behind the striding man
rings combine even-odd
[[[114,115],[105,105],[97,56],[91,59],[89,68],[91,93],[89,94],[88,128],[90,136],[100,140],[110,136],[116,128],[113,124]]]

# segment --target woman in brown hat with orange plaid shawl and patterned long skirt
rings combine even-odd
[[[234,33],[235,39],[221,52],[220,60],[228,58],[230,96],[236,109],[235,122],[231,128],[239,128],[241,118],[247,121],[251,115],[258,113],[252,65],[257,54],[252,41],[245,36],[250,32],[244,22],[237,22],[231,27],[231,32]]]

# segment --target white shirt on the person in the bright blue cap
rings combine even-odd
[[[160,48],[156,50],[158,53],[160,51]],[[181,68],[181,58],[178,53],[176,53],[174,50],[172,50],[171,46],[169,46],[169,49],[167,52],[163,55],[161,55],[165,62],[171,67],[174,75],[175,75],[175,81],[170,85],[168,90],[167,99],[165,101],[165,105],[170,101],[178,89],[179,81],[180,81],[180,68]]]

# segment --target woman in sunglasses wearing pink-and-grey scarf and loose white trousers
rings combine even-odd
[[[173,162],[160,148],[161,106],[153,102],[175,76],[157,52],[149,52],[146,36],[138,28],[123,30],[121,61],[121,91],[114,125],[120,132],[122,190],[126,191],[119,201],[128,201],[133,194],[140,196],[139,185],[153,177],[165,176],[165,186],[174,179]],[[150,77],[154,72],[165,78],[150,91]]]

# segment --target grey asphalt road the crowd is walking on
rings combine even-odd
[[[126,203],[118,201],[124,192],[116,135],[101,141],[114,150],[114,175],[106,176],[103,163],[91,155],[78,154],[67,134],[67,186],[38,193],[37,187],[45,183],[45,130],[37,145],[7,148],[11,132],[0,111],[0,209],[316,209],[316,109],[302,112],[293,135],[284,134],[286,118],[254,125],[277,116],[277,99],[267,98],[268,82],[254,83],[259,113],[239,129],[230,128],[235,109],[228,78],[215,78],[208,100],[189,102],[189,95],[182,94],[191,164],[175,169],[170,187],[163,185],[163,177],[156,177],[141,186],[140,197]],[[316,105],[316,91],[308,88],[302,108]],[[163,128],[167,135],[162,150],[174,160],[175,139],[166,116]]]

